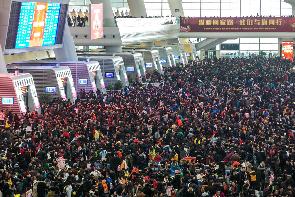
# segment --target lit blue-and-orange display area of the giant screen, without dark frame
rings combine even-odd
[[[54,45],[59,14],[58,3],[22,2],[15,48]]]

